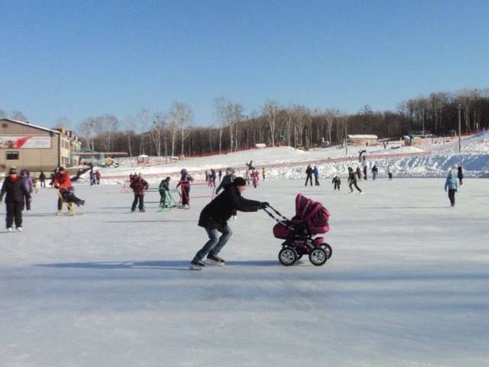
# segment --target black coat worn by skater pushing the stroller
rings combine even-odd
[[[198,225],[204,228],[222,230],[228,224],[229,218],[235,210],[242,212],[256,212],[260,208],[260,201],[248,200],[241,196],[238,188],[233,184],[226,185],[214,200],[208,203],[198,219]]]

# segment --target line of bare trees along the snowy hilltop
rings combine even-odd
[[[309,148],[329,141],[335,145],[346,134],[399,138],[418,131],[448,136],[458,134],[459,117],[462,134],[489,127],[489,88],[418,96],[402,101],[395,111],[374,111],[366,105],[357,113],[344,114],[335,108],[282,106],[273,100],[249,115],[245,111],[242,103],[221,96],[214,100],[211,127],[194,125],[191,106],[177,102],[166,112],[143,109],[124,121],[110,114],[87,117],[78,124],[77,133],[85,149],[161,157],[233,152],[257,143]],[[0,117],[8,114],[0,109]],[[11,117],[27,120],[20,111]],[[67,123],[66,117],[57,122],[58,127]]]

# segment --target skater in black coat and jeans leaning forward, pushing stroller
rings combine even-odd
[[[216,265],[224,265],[224,260],[217,256],[226,245],[233,232],[228,226],[228,220],[235,210],[242,212],[256,212],[259,209],[267,208],[268,203],[248,200],[241,196],[246,189],[246,180],[238,177],[230,184],[224,187],[224,192],[219,194],[216,199],[208,203],[198,219],[198,225],[205,228],[209,240],[196,253],[191,261],[191,270],[202,270],[204,257]],[[218,232],[221,236],[218,238]]]

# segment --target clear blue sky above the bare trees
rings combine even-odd
[[[489,1],[0,0],[0,109],[34,124],[224,96],[395,110],[419,94],[486,88]]]

